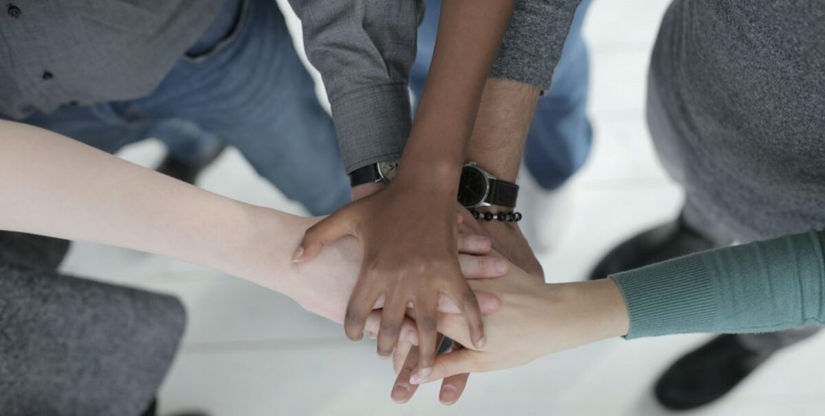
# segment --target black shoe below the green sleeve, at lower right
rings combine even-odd
[[[709,404],[728,394],[775,352],[756,353],[736,335],[720,335],[668,368],[656,383],[656,399],[672,410]]]

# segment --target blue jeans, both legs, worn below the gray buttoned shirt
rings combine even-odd
[[[350,200],[332,119],[273,0],[228,0],[149,96],[66,105],[21,121],[111,153],[155,137],[183,161],[224,142],[309,213]]]

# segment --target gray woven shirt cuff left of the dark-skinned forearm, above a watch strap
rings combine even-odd
[[[412,124],[407,85],[365,86],[332,101],[332,119],[347,173],[400,159]]]

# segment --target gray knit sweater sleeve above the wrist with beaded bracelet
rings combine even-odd
[[[581,0],[516,0],[490,77],[547,90]]]

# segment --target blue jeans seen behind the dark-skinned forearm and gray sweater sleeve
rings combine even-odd
[[[563,185],[584,164],[592,143],[587,120],[590,58],[582,39],[582,21],[591,0],[579,5],[549,91],[539,100],[525,145],[527,169],[544,189]],[[441,0],[427,0],[427,13],[418,30],[418,54],[410,87],[421,96],[436,43]]]

